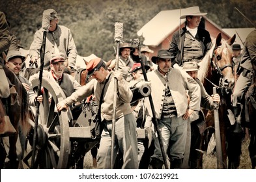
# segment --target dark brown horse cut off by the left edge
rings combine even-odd
[[[16,133],[14,135],[10,135],[9,137],[9,151],[8,151],[8,159],[10,160],[10,166],[6,166],[6,168],[18,168],[17,161],[17,152],[16,152],[16,142],[19,134],[19,125],[21,126],[21,131],[23,135],[27,135],[29,131],[29,120],[28,120],[28,99],[27,99],[27,91],[22,86],[20,80],[16,75],[8,70],[8,68],[3,68],[5,74],[10,81],[11,85],[15,86],[16,94],[10,94],[8,98],[1,99],[2,105],[0,106],[1,112],[5,112],[5,114],[10,118],[10,122],[16,129]],[[1,168],[5,167],[5,158],[6,151],[3,144],[3,139],[1,140],[1,159],[0,165]]]

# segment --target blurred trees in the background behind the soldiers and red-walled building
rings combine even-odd
[[[7,14],[10,32],[29,49],[35,31],[42,25],[42,12],[53,8],[59,16],[59,24],[71,29],[78,54],[85,57],[94,53],[104,60],[114,57],[115,22],[124,24],[124,41],[137,36],[137,31],[161,10],[199,6],[201,12],[221,28],[253,27],[256,21],[256,0],[0,0],[0,10]],[[161,27],[155,27],[161,29]]]

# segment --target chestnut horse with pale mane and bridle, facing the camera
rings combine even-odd
[[[228,109],[231,108],[231,88],[235,83],[233,74],[233,56],[231,45],[235,42],[236,35],[224,40],[221,33],[212,41],[211,49],[206,53],[205,57],[199,62],[200,69],[198,78],[205,86],[206,92],[209,95],[213,94],[213,87],[217,88],[220,95],[220,105],[218,109],[220,122],[220,138],[221,138],[221,155],[223,168],[227,168],[227,157],[229,159],[228,168],[237,168],[239,165],[239,157],[242,144],[242,137],[236,137],[237,146],[231,144],[232,134],[234,134],[234,125],[229,123]],[[214,110],[203,110],[206,120],[206,130],[202,138],[202,151],[206,151],[210,136],[214,132]],[[239,133],[240,134],[240,133]],[[238,141],[237,141],[238,140]],[[226,142],[229,143],[226,145]],[[238,148],[238,151],[232,151],[232,148]],[[234,149],[233,149],[234,150]],[[229,152],[230,151],[230,152]],[[232,156],[233,154],[235,156]],[[228,156],[227,156],[228,155]],[[203,153],[201,154],[201,160]],[[202,165],[203,163],[200,162]]]

